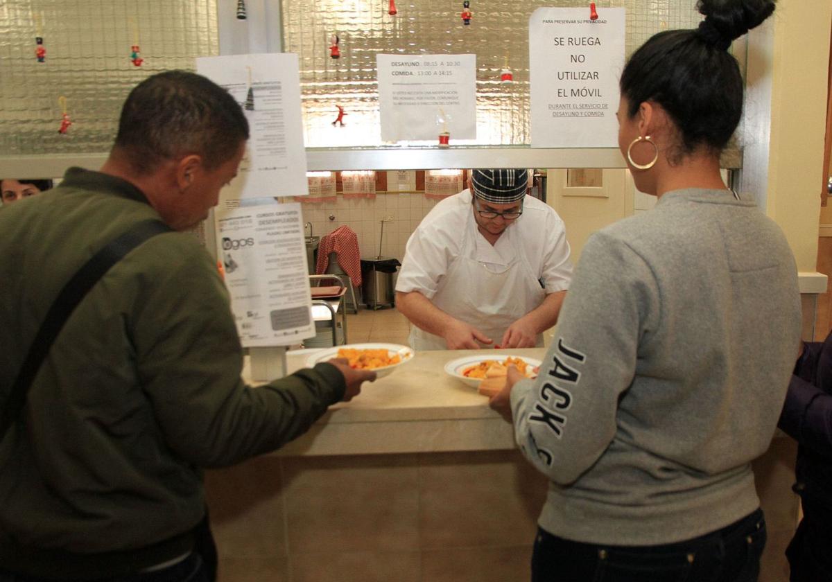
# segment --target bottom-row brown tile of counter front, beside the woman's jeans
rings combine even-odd
[[[532,575],[531,562],[531,545],[428,550],[422,554],[422,580],[525,582]]]

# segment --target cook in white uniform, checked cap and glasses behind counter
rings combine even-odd
[[[396,307],[417,350],[542,346],[572,279],[563,221],[527,170],[472,170],[408,240]]]

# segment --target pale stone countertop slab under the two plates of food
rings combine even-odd
[[[545,348],[500,354],[542,359]],[[288,372],[305,367],[311,351],[287,354]],[[418,352],[389,376],[365,382],[352,402],[330,407],[303,437],[276,454],[365,455],[514,448],[513,429],[488,407],[488,398],[444,371],[461,356],[495,350]]]

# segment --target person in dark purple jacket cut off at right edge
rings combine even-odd
[[[778,426],[798,441],[794,490],[803,519],[786,549],[791,582],[832,580],[832,333],[801,343]]]

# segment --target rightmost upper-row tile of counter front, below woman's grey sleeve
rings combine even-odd
[[[517,451],[429,458],[419,468],[423,548],[532,543],[547,479]]]

